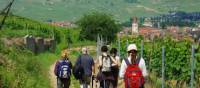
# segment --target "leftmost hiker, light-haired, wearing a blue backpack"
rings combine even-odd
[[[57,88],[69,88],[72,63],[67,49],[61,52],[61,59],[56,62],[54,73],[57,76]]]

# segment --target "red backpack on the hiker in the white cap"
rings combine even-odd
[[[136,60],[136,64],[130,64],[128,59],[125,59],[127,69],[124,75],[125,88],[143,88],[144,77],[138,64],[140,58]]]

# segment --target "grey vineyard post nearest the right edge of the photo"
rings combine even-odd
[[[190,81],[190,87],[194,88],[194,45],[192,45],[192,60],[191,60],[191,81]]]

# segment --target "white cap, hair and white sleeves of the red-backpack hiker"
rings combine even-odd
[[[136,59],[137,57],[137,47],[135,44],[130,44],[127,47],[127,52],[128,52],[128,61],[133,64],[136,63]],[[120,78],[124,78],[124,74],[127,68],[127,64],[125,62],[125,60],[122,61],[121,67],[120,67],[120,71],[119,71],[119,77]],[[142,75],[143,77],[147,77],[148,73],[147,73],[147,69],[146,69],[146,65],[145,65],[145,60],[143,58],[140,58],[140,62],[139,62],[139,68],[142,71]]]

